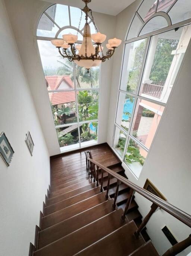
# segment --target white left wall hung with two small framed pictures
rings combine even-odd
[[[50,183],[49,154],[3,0],[0,0],[0,132],[15,151],[0,157],[0,255],[26,256]],[[31,132],[31,157],[25,133]]]

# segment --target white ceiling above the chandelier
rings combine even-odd
[[[83,8],[84,2],[82,0],[44,0],[50,3],[66,4],[74,7]],[[129,4],[135,0],[91,0],[88,6],[94,12],[106,13],[116,16],[119,12],[124,10]]]

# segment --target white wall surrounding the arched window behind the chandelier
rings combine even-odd
[[[65,0],[63,0],[62,3],[65,4]],[[60,148],[35,37],[38,19],[49,5],[50,3],[40,0],[6,1],[7,12],[15,34],[21,60],[24,64],[48,151],[50,155],[55,155],[60,153]],[[115,36],[116,18],[114,16],[95,12],[94,19],[101,33],[107,34],[108,38]],[[105,50],[106,47],[104,47],[104,51]],[[100,111],[99,116],[98,143],[106,142],[107,137],[107,116],[112,79],[112,61],[111,59],[101,65],[100,108],[104,109],[104,111]]]

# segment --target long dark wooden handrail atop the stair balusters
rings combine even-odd
[[[117,174],[116,172],[113,172],[109,168],[105,167],[104,165],[101,165],[97,161],[91,159],[88,157],[88,154],[90,151],[85,151],[85,156],[87,158],[87,162],[90,161],[94,165],[97,165],[99,168],[101,168],[103,171],[110,174],[112,177],[115,177],[117,180],[121,181],[123,184],[129,186],[131,189],[139,193],[140,195],[147,198],[149,201],[156,204],[158,207],[165,210],[167,213],[175,217],[176,219],[180,220],[185,225],[189,226],[191,228],[191,215],[188,213],[185,213],[184,211],[180,210],[179,208],[175,207],[172,204],[169,204],[168,202],[164,201],[163,199],[159,198],[156,195],[153,195],[152,193],[148,192],[147,190],[137,186],[136,184],[132,183],[131,181],[127,180],[126,178],[122,177],[121,175]],[[91,152],[90,152],[91,153]]]

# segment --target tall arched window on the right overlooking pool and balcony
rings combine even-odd
[[[190,24],[190,0],[144,0],[129,27],[113,148],[137,178],[190,42]]]

